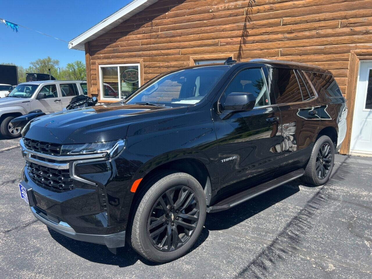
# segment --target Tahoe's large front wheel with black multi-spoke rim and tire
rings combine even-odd
[[[189,251],[203,229],[203,188],[191,175],[177,171],[160,173],[144,187],[148,190],[134,211],[132,247],[150,261],[170,262]]]

